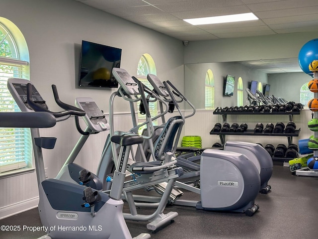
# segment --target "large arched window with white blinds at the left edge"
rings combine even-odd
[[[14,34],[13,34],[14,33]],[[29,53],[26,41],[11,21],[0,17],[0,111],[20,111],[6,83],[8,78],[29,79]],[[28,128],[0,128],[0,175],[32,167],[31,134]]]

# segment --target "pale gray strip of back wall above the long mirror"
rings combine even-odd
[[[316,32],[193,41],[184,48],[184,64],[298,57]]]

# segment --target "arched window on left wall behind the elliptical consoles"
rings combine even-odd
[[[152,58],[152,56],[148,53],[145,53],[141,56],[141,58],[139,59],[139,62],[138,62],[137,78],[145,86],[149,87],[150,89],[153,89],[152,85],[147,80],[147,75],[149,73],[157,75],[156,65],[155,65],[155,62],[154,62],[154,59]],[[137,108],[139,111],[139,104],[138,104]],[[149,103],[149,110],[150,110],[150,114],[152,117],[156,116],[158,113],[157,102],[150,102]],[[146,120],[146,115],[141,115],[140,113],[138,113],[138,123],[145,122],[145,120]],[[157,124],[157,120],[153,121],[153,123]],[[146,127],[146,125],[144,127]],[[144,128],[144,127],[142,127],[142,128]],[[142,128],[139,131],[141,131]]]

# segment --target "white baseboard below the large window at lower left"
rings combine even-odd
[[[36,208],[38,204],[39,197],[35,197],[0,208],[0,220]]]

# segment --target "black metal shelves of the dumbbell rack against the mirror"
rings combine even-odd
[[[317,94],[317,93],[315,93]],[[223,123],[227,122],[228,115],[288,115],[289,121],[293,122],[294,115],[300,115],[300,112],[213,112],[213,115],[222,115]],[[244,136],[285,136],[288,139],[288,144],[293,143],[293,137],[299,136],[300,128],[296,129],[294,133],[255,133],[253,129],[247,129],[244,132],[213,132],[210,134],[219,135],[222,145],[225,143],[226,135],[244,135]],[[273,160],[286,161],[288,158],[277,158],[273,157]]]

